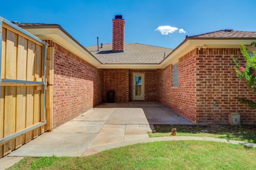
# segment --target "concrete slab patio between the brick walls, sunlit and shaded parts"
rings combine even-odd
[[[103,103],[9,156],[82,156],[94,147],[148,138],[153,124],[193,124],[157,102]]]

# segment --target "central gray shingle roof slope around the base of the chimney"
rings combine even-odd
[[[103,44],[97,51],[97,45],[87,46],[95,58],[103,64],[158,64],[172,49],[153,45],[125,43],[124,52],[113,53],[112,44]]]

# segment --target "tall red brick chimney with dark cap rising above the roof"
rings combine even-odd
[[[124,52],[124,19],[122,15],[116,15],[113,21],[112,51]]]

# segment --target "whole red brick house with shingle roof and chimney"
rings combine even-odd
[[[243,124],[256,123],[256,110],[237,97],[253,99],[233,73],[241,63],[241,43],[256,32],[219,30],[186,39],[175,49],[124,43],[125,20],[113,19],[113,42],[84,47],[59,25],[18,23],[53,47],[53,127],[107,101],[157,101],[195,124],[227,124],[239,112]],[[248,46],[249,50],[254,50]]]

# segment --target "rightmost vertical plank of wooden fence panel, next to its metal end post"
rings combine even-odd
[[[36,44],[35,55],[35,77],[34,79],[42,79],[42,47]],[[41,80],[42,81],[42,80]],[[34,90],[34,124],[41,120],[41,91]],[[34,137],[40,134],[40,128],[34,129]]]

